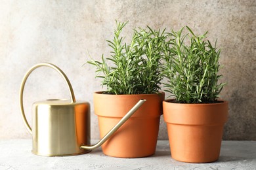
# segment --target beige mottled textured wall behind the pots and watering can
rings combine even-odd
[[[230,102],[224,139],[256,140],[256,1],[0,1],[0,137],[30,137],[20,116],[18,90],[32,65],[58,65],[72,82],[75,96],[92,103],[101,90],[94,68],[83,63],[109,54],[115,20],[133,27],[179,29],[189,25],[198,34],[209,30],[222,48],[222,73],[228,86],[222,98]],[[26,84],[25,110],[31,120],[33,101],[69,97],[62,78],[41,68]],[[92,103],[93,105],[93,103]],[[92,106],[93,108],[93,106]],[[91,112],[91,136],[98,138],[98,122]],[[167,139],[161,120],[160,139]]]

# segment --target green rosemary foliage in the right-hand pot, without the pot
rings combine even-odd
[[[225,83],[218,83],[220,50],[205,41],[207,32],[197,36],[186,27],[168,33],[163,76],[165,91],[172,93],[177,103],[215,103]]]

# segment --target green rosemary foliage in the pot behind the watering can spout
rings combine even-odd
[[[161,67],[163,58],[161,46],[165,43],[164,31],[133,29],[131,42],[127,44],[121,31],[126,23],[116,22],[114,39],[107,41],[112,48],[111,55],[101,61],[92,59],[87,63],[95,65],[96,77],[102,78],[105,93],[110,94],[148,94],[160,90]],[[111,65],[111,66],[110,66]]]

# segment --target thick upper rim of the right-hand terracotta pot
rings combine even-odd
[[[228,102],[185,104],[163,101],[163,118],[166,123],[184,125],[224,124],[228,118]]]

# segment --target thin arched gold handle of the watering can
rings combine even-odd
[[[28,124],[28,120],[26,119],[26,115],[24,112],[24,107],[23,107],[23,91],[24,91],[24,86],[26,83],[26,80],[28,79],[28,76],[32,73],[32,71],[34,71],[35,69],[37,69],[38,67],[51,67],[52,69],[56,70],[61,76],[62,78],[64,78],[64,80],[66,80],[66,84],[68,85],[68,88],[70,89],[70,97],[71,97],[71,101],[72,103],[75,102],[75,95],[74,95],[74,91],[73,88],[70,84],[70,80],[68,80],[68,77],[64,74],[64,72],[58,68],[56,65],[53,65],[51,63],[38,63],[36,65],[34,65],[24,76],[23,80],[22,80],[22,84],[20,86],[20,111],[22,113],[22,119],[23,122],[26,126],[26,128],[28,129],[28,131],[30,132],[30,134],[32,134],[32,128],[30,127],[30,124]]]

